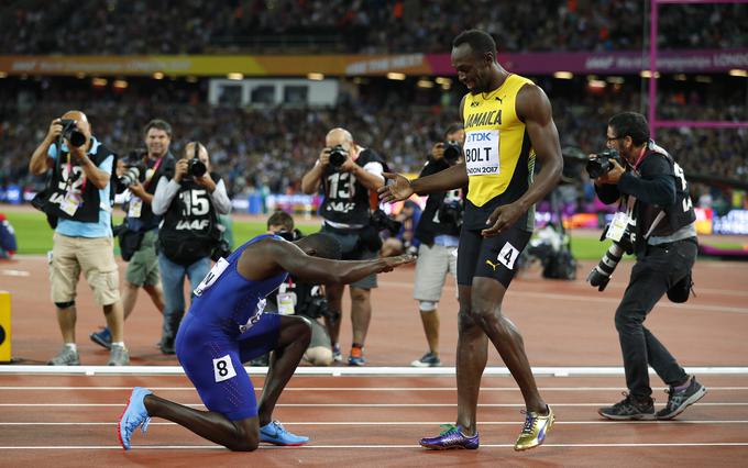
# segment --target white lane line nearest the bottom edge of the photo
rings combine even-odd
[[[651,447],[746,447],[748,442],[691,442],[691,443],[631,443],[631,444],[549,444],[543,447],[554,448],[651,448]],[[288,450],[287,447],[261,445],[261,449]],[[302,445],[295,449],[345,449],[352,448],[422,448],[419,445]],[[514,444],[481,444],[481,448],[514,448]],[[226,448],[219,445],[142,445],[133,448],[140,450],[221,450]],[[122,450],[120,445],[26,445],[26,446],[0,446],[0,450]]]

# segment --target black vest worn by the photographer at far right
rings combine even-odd
[[[658,207],[650,203],[645,203],[637,200],[634,213],[636,219],[637,244],[645,242],[645,235],[649,232],[652,223],[660,212],[664,212],[664,218],[659,221],[657,226],[652,230],[650,237],[667,237],[674,234],[682,227],[688,226],[696,220],[696,213],[693,210],[693,203],[689,196],[689,182],[685,180],[683,169],[674,161],[672,156],[658,146],[653,141],[647,144],[647,151],[641,158],[638,170],[642,178],[659,176],[661,174],[652,174],[649,169],[648,163],[652,158],[662,157],[668,161],[670,171],[662,174],[664,176],[672,176],[675,179],[675,202],[669,207]],[[637,250],[641,249],[641,245],[637,246]]]

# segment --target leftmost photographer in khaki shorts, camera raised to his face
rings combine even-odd
[[[55,119],[29,164],[42,175],[52,169],[44,200],[37,201],[48,219],[56,222],[50,257],[52,301],[63,334],[63,349],[50,360],[53,366],[80,364],[75,341],[76,287],[82,272],[103,308],[111,330],[108,365],[130,361],[123,342],[119,271],[114,261],[111,207],[112,171],[117,155],[91,135],[91,125],[80,111]]]

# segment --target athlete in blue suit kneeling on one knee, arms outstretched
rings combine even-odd
[[[216,266],[195,289],[196,298],[176,336],[176,354],[208,411],[198,411],[135,387],[118,425],[125,449],[132,433],[145,433],[151,417],[173,421],[232,450],[250,452],[260,442],[302,445],[309,437],[273,421],[280,392],[309,346],[306,319],[265,314],[265,296],[286,280],[350,283],[367,275],[392,271],[411,256],[339,261],[340,243],[312,234],[295,243],[261,235]],[[323,257],[323,258],[315,258]],[[273,350],[260,403],[242,363]]]

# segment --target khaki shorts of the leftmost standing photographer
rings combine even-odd
[[[81,271],[94,290],[97,304],[110,305],[120,300],[120,275],[111,237],[68,237],[55,233],[53,243],[50,260],[52,302],[75,300]]]

